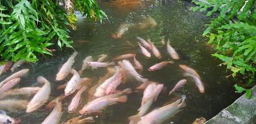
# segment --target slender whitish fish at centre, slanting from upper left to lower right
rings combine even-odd
[[[133,65],[128,60],[123,60],[123,65],[125,66],[125,69],[137,80],[141,82],[148,82],[148,79],[142,78],[140,74],[137,73],[135,68],[133,68]]]

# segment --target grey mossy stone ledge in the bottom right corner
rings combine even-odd
[[[252,98],[256,97],[256,86],[252,87]],[[256,100],[246,99],[245,94],[220,111],[206,124],[253,124],[256,123]]]

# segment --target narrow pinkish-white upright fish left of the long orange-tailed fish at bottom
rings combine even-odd
[[[75,94],[75,96],[73,97],[73,99],[71,100],[70,104],[69,104],[69,108],[68,108],[68,112],[69,113],[73,113],[75,112],[75,110],[77,109],[77,107],[79,106],[80,102],[81,102],[81,94],[83,93],[83,91],[85,91],[87,89],[86,86],[83,86],[78,92],[77,94]]]

